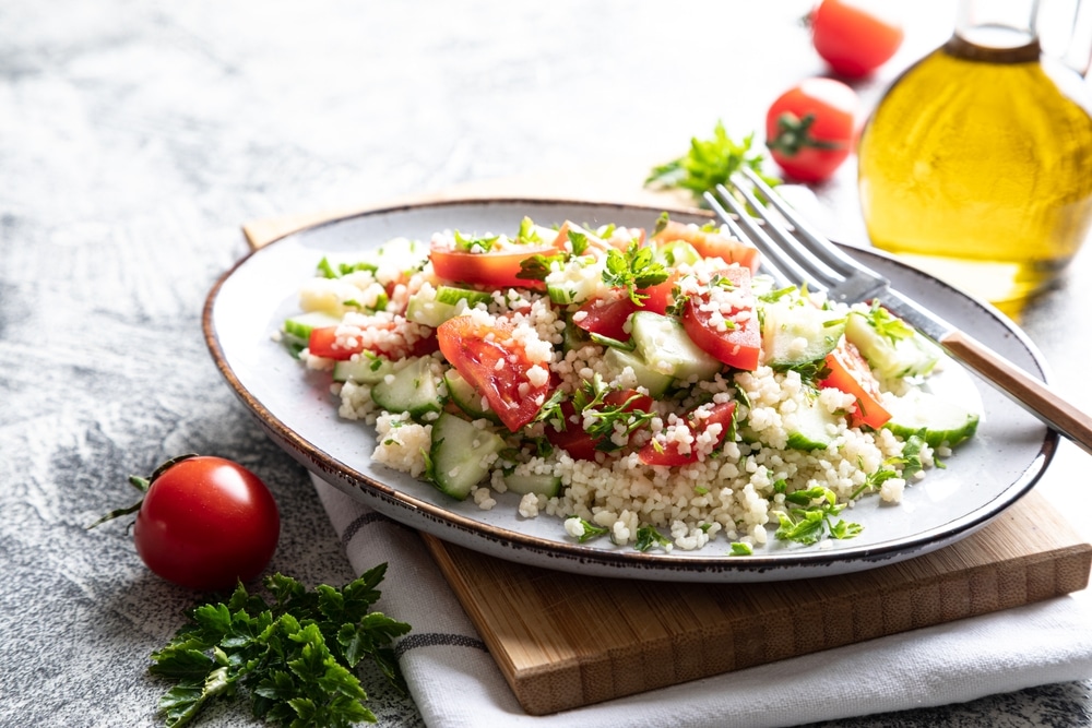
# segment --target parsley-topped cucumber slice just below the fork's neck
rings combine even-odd
[[[886,334],[870,323],[877,317]],[[940,348],[936,344],[882,309],[868,315],[851,312],[845,322],[845,338],[883,379],[924,377],[940,360]]]

